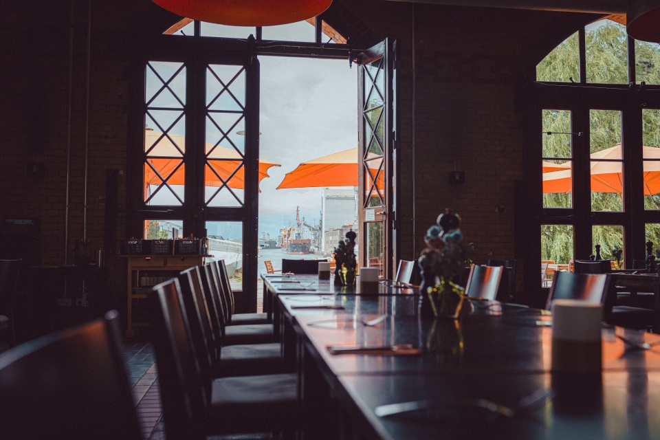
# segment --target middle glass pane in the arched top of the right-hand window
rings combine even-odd
[[[599,20],[584,27],[586,82],[628,83],[628,35],[626,26]]]

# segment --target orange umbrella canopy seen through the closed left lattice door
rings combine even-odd
[[[162,184],[163,180],[170,185],[184,184],[186,175],[182,152],[186,151],[185,142],[183,136],[169,135],[167,137],[152,130],[144,132],[145,151],[148,152],[148,156],[151,156],[146,159],[144,164],[145,194],[148,194],[150,186]],[[212,147],[212,144],[207,143],[206,151],[210,151]],[[259,159],[259,181],[264,177],[269,177],[267,171],[271,166],[280,165]],[[245,188],[243,157],[234,148],[216,146],[209,155],[208,165],[204,167],[204,185],[219,187],[223,185],[222,181],[226,181],[230,188]]]

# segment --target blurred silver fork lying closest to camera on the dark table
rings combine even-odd
[[[538,388],[533,393],[522,397],[514,406],[496,404],[494,401],[488,399],[459,397],[456,399],[423,399],[400,402],[398,404],[380,405],[374,409],[374,413],[378,417],[390,417],[406,412],[441,408],[443,406],[468,406],[483,408],[493,414],[510,419],[517,415],[529,414],[538,408],[542,408],[554,396],[555,392],[551,388]]]

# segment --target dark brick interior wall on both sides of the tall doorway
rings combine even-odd
[[[87,136],[89,247],[96,250],[104,245],[107,170],[118,170],[115,236],[125,235],[129,80],[137,68],[133,60],[142,55],[141,41],[162,32],[177,17],[149,0],[111,5],[92,1],[87,107],[88,3],[75,2],[69,107],[71,9],[61,3],[40,3],[39,8],[31,4],[17,3],[0,18],[4,61],[0,63],[0,154],[5,171],[0,173],[0,218],[39,217],[43,263],[60,265],[65,263],[69,108],[68,263],[72,263],[76,239],[82,239],[85,230]],[[401,258],[419,254],[421,237],[445,207],[463,216],[466,239],[476,243],[477,261],[484,261],[488,252],[498,259],[514,255],[513,182],[526,177],[524,109],[518,107],[516,94],[533,72],[529,66],[534,60],[588,19],[584,14],[383,0],[333,2],[327,21],[351,36],[356,47],[385,36],[397,40]],[[30,163],[44,165],[43,179],[28,177],[25,170]],[[448,171],[454,166],[465,171],[461,186],[448,185]],[[503,212],[496,212],[500,206]],[[119,298],[125,289],[125,263],[112,258],[107,263],[109,287]]]

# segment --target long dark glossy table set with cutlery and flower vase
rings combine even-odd
[[[305,420],[314,439],[645,439],[660,437],[660,345],[631,350],[618,336],[657,342],[650,333],[602,330],[603,373],[550,371],[551,316],[516,305],[465,303],[456,323],[420,318],[417,295],[280,290],[291,327]],[[297,308],[299,305],[342,308]],[[382,314],[378,325],[362,321]],[[412,344],[419,355],[340,354],[330,345]],[[510,408],[539,389],[554,397],[529,413],[505,417],[464,405],[487,399]],[[379,417],[404,401],[452,400],[430,410]],[[455,400],[460,399],[460,400]]]

